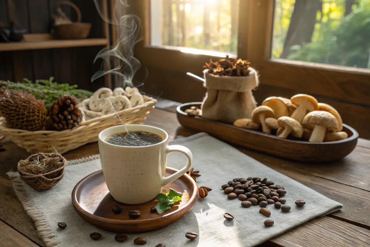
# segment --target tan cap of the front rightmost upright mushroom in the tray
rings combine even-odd
[[[303,126],[312,129],[314,125],[326,127],[328,130],[336,130],[338,121],[335,116],[327,111],[311,111],[307,113],[302,122]]]

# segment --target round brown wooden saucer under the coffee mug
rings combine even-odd
[[[165,176],[174,174],[176,171],[174,168],[167,167]],[[76,184],[72,191],[72,203],[81,218],[101,229],[123,233],[142,233],[174,223],[185,216],[198,199],[198,186],[187,174],[163,187],[162,193],[169,192],[170,188],[183,193],[182,200],[159,215],[150,210],[157,204],[155,198],[139,205],[128,205],[115,201],[105,184],[102,170],[99,170]],[[113,213],[112,207],[116,205],[122,207],[121,214]],[[141,216],[131,219],[128,217],[129,210],[139,210]]]

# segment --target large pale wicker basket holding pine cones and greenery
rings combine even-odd
[[[139,124],[145,120],[157,100],[144,97],[144,104],[118,111],[125,124]],[[63,154],[87,143],[98,141],[98,134],[106,128],[121,124],[115,113],[96,117],[80,123],[76,128],[63,131],[28,131],[7,128],[5,119],[0,118],[0,132],[29,153],[50,153],[55,150]]]

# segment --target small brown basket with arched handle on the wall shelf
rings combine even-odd
[[[77,12],[77,22],[72,22],[60,8],[62,4],[69,5]],[[86,39],[90,34],[91,23],[81,23],[81,11],[70,1],[60,1],[57,6],[58,15],[53,15],[54,36],[57,39]]]

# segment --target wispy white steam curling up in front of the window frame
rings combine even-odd
[[[139,35],[140,32],[140,18],[134,14],[127,13],[129,4],[127,0],[112,0],[115,1],[114,10],[112,13],[112,18],[109,19],[99,5],[100,0],[94,0],[95,7],[98,10],[101,18],[107,23],[114,24],[113,28],[117,28],[117,43],[113,49],[109,50],[104,48],[95,57],[94,63],[97,59],[104,59],[105,62],[110,61],[111,57],[115,57],[118,60],[118,65],[114,69],[110,70],[100,70],[97,71],[91,77],[91,82],[98,79],[99,77],[105,76],[106,74],[113,74],[117,76],[120,81],[120,86],[130,86],[133,87],[132,79],[135,73],[140,69],[141,64],[134,55],[134,46],[136,43],[141,41],[143,37]],[[121,16],[122,15],[122,16]],[[104,65],[103,65],[104,67]],[[102,67],[102,68],[103,68]]]

